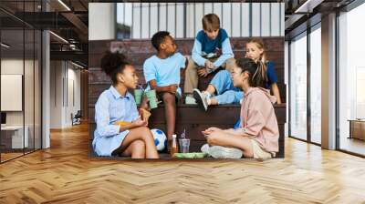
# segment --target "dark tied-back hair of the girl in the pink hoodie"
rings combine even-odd
[[[265,87],[266,76],[265,70],[260,65],[260,62],[255,63],[250,58],[239,58],[235,60],[235,64],[241,68],[241,73],[248,73],[248,84],[251,87]]]

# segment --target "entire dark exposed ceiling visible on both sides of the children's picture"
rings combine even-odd
[[[354,0],[285,0],[286,36],[296,35],[306,29],[308,19],[314,19],[328,12],[336,11],[349,5]],[[7,49],[20,52],[25,47],[31,48],[32,39],[29,32],[23,36],[23,27],[49,29],[57,36],[50,35],[51,59],[68,59],[88,65],[89,36],[89,2],[112,2],[108,0],[1,0],[0,25],[2,26],[2,41],[11,44]],[[242,2],[242,1],[241,1]],[[255,1],[245,1],[255,2]],[[261,1],[263,2],[263,1]],[[267,2],[283,2],[281,0]],[[63,4],[62,4],[63,3]],[[47,12],[44,12],[47,8]],[[20,30],[19,30],[20,29]],[[3,48],[2,48],[3,49]]]

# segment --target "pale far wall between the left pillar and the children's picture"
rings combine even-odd
[[[69,62],[51,61],[50,77],[50,128],[70,127],[71,113],[80,109],[80,71]]]

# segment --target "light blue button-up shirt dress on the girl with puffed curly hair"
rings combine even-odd
[[[130,132],[120,132],[120,126],[113,124],[119,120],[132,122],[138,117],[136,102],[129,92],[123,97],[113,86],[103,91],[95,104],[97,128],[92,141],[94,151],[99,156],[111,156]]]

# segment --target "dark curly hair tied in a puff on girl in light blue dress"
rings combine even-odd
[[[125,66],[129,66],[130,62],[126,60],[126,57],[119,53],[111,53],[107,51],[101,58],[101,69],[110,76],[113,85],[117,85],[117,76],[119,73],[123,73]]]

